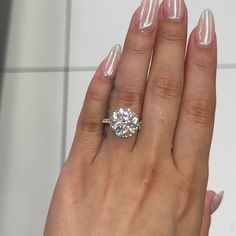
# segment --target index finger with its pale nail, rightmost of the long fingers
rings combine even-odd
[[[182,172],[187,175],[201,173],[203,178],[207,175],[214,125],[216,51],[213,15],[205,10],[190,37],[173,150],[175,163]]]

